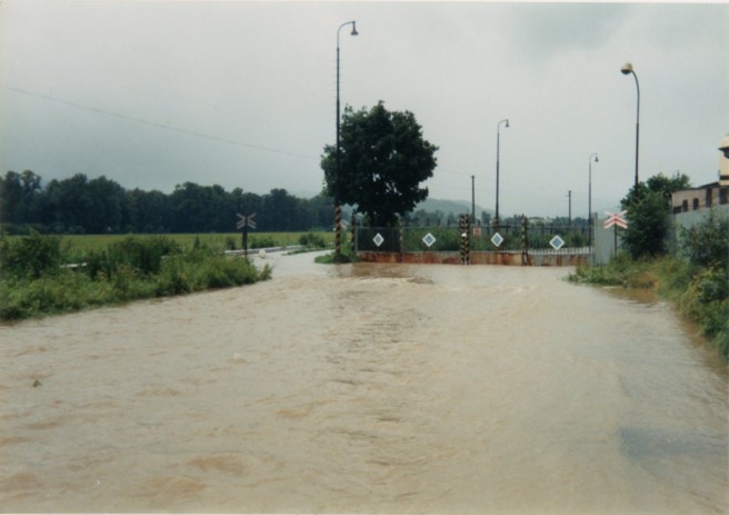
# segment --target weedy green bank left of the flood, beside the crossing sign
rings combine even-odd
[[[79,237],[73,237],[79,238]],[[127,236],[78,247],[57,236],[3,238],[0,242],[0,319],[71,313],[136,299],[182,295],[256,283],[270,277],[222,248],[192,239]],[[106,247],[98,245],[98,239]],[[68,263],[83,266],[69,267]]]

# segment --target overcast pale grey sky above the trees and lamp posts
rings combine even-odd
[[[124,188],[321,189],[341,101],[412,111],[431,198],[500,212],[615,208],[640,178],[717,180],[729,4],[0,0],[0,172]]]

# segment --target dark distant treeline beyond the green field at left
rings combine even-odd
[[[31,228],[53,234],[234,232],[236,214],[253,212],[261,231],[328,229],[333,224],[333,200],[297,198],[286,189],[257,195],[193,182],[178,185],[167,195],[128,190],[103,176],[89,179],[83,174],[44,186],[30,170],[8,171],[0,178],[4,234],[26,234]]]

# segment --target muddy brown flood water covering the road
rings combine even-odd
[[[727,367],[667,305],[565,268],[266,259],[0,327],[0,509],[729,511]]]

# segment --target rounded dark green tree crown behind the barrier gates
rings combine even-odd
[[[367,214],[373,226],[391,225],[428,197],[420,184],[432,177],[438,147],[422,137],[410,111],[348,107],[337,148],[324,147],[321,168],[326,192]]]

